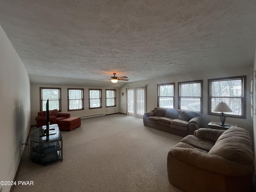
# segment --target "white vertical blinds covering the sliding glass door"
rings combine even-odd
[[[146,110],[146,85],[127,87],[127,114],[143,118]]]

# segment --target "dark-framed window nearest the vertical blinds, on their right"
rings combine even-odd
[[[157,106],[174,108],[174,83],[158,84],[157,88]]]

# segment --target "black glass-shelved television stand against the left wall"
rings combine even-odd
[[[33,162],[48,165],[63,161],[63,138],[57,124],[49,126],[49,135],[45,133],[46,126],[30,132],[30,158]]]

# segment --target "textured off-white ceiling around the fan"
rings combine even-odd
[[[256,2],[1,0],[0,25],[32,83],[113,86],[252,65]]]

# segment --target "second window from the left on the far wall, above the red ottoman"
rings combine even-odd
[[[68,111],[84,109],[84,89],[68,88]]]

